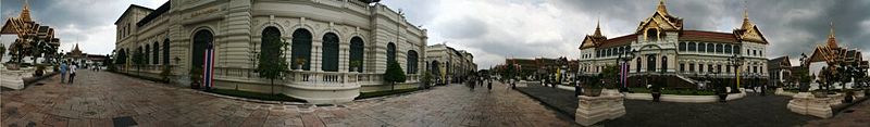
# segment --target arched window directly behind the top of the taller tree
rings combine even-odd
[[[266,27],[260,36],[260,58],[259,61],[285,61],[281,60],[281,30],[276,27]]]

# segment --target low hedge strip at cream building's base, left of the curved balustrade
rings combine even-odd
[[[270,93],[260,93],[260,92],[249,92],[249,91],[239,91],[239,90],[231,90],[231,89],[210,89],[206,90],[206,92],[217,93],[223,96],[231,96],[231,97],[239,97],[239,98],[247,98],[247,99],[257,99],[257,100],[264,100],[264,101],[289,101],[289,102],[306,102],[301,99],[296,99],[293,97],[287,97],[285,94],[270,94]]]

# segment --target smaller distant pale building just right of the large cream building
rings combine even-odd
[[[426,71],[438,84],[462,81],[477,69],[474,55],[465,50],[456,50],[445,43],[426,47]]]

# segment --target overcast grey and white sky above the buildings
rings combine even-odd
[[[33,15],[60,30],[67,50],[109,53],[114,23],[129,4],[157,8],[166,0],[32,0]],[[17,16],[21,0],[2,0],[2,18]],[[576,48],[600,20],[608,37],[627,35],[650,16],[658,0],[384,0],[408,20],[428,29],[428,45],[447,43],[475,55],[481,68],[505,58],[579,58]],[[771,42],[769,58],[810,53],[834,23],[840,43],[870,49],[868,0],[668,0],[668,11],[686,29],[731,33],[743,10]],[[1,36],[3,43],[14,36]],[[870,55],[870,53],[865,53]]]

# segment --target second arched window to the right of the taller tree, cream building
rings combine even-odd
[[[338,36],[333,33],[323,35],[323,53],[321,58],[321,69],[325,72],[338,72]]]

